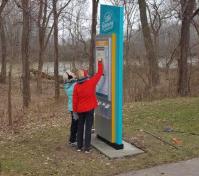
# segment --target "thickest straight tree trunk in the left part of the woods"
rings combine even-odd
[[[30,95],[30,71],[29,71],[29,34],[30,34],[30,14],[29,14],[29,0],[22,0],[23,9],[23,29],[22,29],[22,94],[23,94],[23,106],[28,107],[31,95]]]

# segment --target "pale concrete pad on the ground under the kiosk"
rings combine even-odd
[[[91,139],[92,146],[99,150],[101,153],[106,155],[110,159],[122,158],[125,156],[133,156],[137,154],[144,153],[142,150],[136,148],[135,146],[123,141],[124,149],[116,150],[108,144],[104,143],[96,137],[95,134],[92,134]]]

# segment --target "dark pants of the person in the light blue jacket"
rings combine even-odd
[[[77,141],[77,127],[78,127],[78,120],[73,119],[73,112],[71,111],[71,126],[70,126],[70,139],[71,143]]]

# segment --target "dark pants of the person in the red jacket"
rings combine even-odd
[[[78,113],[78,132],[77,132],[77,147],[83,147],[84,125],[85,125],[85,150],[90,149],[91,145],[91,129],[93,125],[94,110]]]

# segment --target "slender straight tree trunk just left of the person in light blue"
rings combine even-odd
[[[53,0],[54,16],[54,76],[55,76],[55,99],[59,99],[59,50],[58,50],[58,13],[57,0]]]

